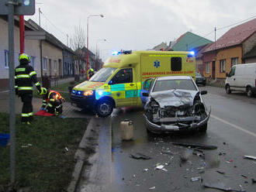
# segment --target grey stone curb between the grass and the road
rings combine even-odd
[[[85,156],[86,156],[85,151],[83,149],[85,149],[87,146],[86,144],[87,138],[92,132],[91,130],[93,128],[92,119],[93,118],[91,118],[90,122],[87,125],[87,129],[85,130],[85,134],[83,135],[81,142],[79,143],[77,152],[74,154],[74,159],[77,159],[77,163],[74,166],[74,171],[72,173],[72,180],[69,186],[67,187],[67,192],[74,192],[78,187],[78,181],[81,176],[81,170],[83,169],[83,166],[85,163]]]

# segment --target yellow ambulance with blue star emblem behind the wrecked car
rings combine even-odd
[[[122,51],[106,60],[89,81],[71,91],[71,105],[111,115],[113,108],[141,105],[141,86],[147,78],[189,75],[195,79],[195,57],[184,51]]]

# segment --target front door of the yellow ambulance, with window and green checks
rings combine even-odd
[[[111,81],[111,96],[116,101],[116,108],[137,104],[137,84],[133,81],[133,68],[120,69]]]

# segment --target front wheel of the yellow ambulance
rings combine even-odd
[[[105,118],[112,114],[114,105],[112,101],[102,100],[96,105],[96,112],[101,118]]]

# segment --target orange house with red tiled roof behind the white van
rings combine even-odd
[[[233,65],[254,60],[255,46],[256,19],[252,19],[230,29],[203,51],[203,74],[224,81]]]

